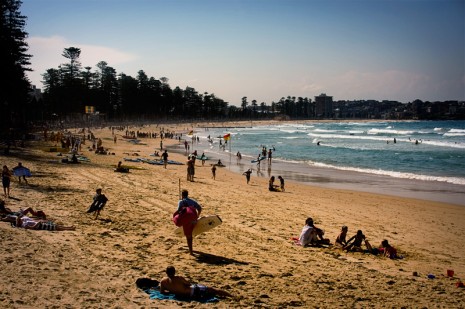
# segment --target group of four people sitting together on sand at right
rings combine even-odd
[[[381,254],[390,259],[401,258],[401,256],[397,255],[397,250],[392,247],[386,239],[381,242],[379,248],[373,248],[368,239],[366,239],[362,230],[358,230],[354,236],[347,240],[348,231],[349,228],[344,225],[336,238],[336,246],[342,248],[346,252],[355,251],[372,253],[374,255]],[[298,243],[302,246],[331,244],[328,238],[324,238],[324,231],[314,225],[312,218],[307,218],[307,220],[305,220],[305,226],[302,228]],[[363,244],[365,244],[366,249],[362,249]]]

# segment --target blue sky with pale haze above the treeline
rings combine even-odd
[[[230,105],[465,100],[464,0],[23,0],[32,84],[83,67],[167,77]]]

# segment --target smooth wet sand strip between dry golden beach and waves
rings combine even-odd
[[[172,145],[170,149],[182,155],[186,154],[182,144]],[[198,152],[202,153],[202,151]],[[227,150],[223,153],[208,152],[207,150],[205,153],[207,157],[211,158],[207,161],[207,164],[221,159],[226,164],[225,169],[237,174],[242,174],[247,169],[252,168],[254,171],[252,177],[269,179],[271,175],[281,175],[286,181],[295,181],[309,186],[391,195],[465,206],[465,188],[460,185],[437,181],[401,179],[355,171],[340,171],[276,159],[273,159],[271,168],[266,160],[263,160],[261,168],[258,170],[257,165],[250,163],[249,158],[243,157],[241,160],[237,160],[235,154],[230,154]]]

